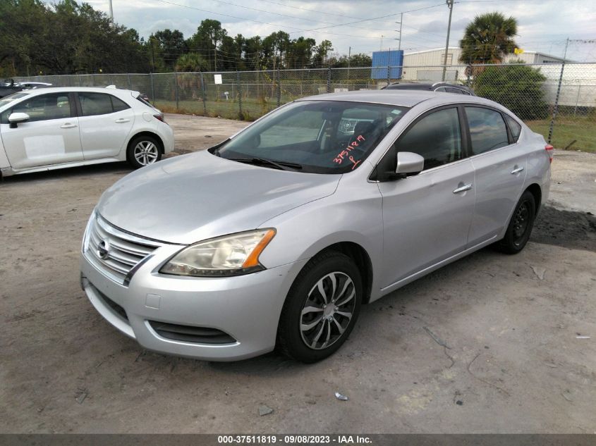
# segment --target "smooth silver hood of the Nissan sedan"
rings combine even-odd
[[[104,192],[97,211],[127,232],[190,244],[259,228],[333,194],[340,177],[251,166],[201,151],[126,175]]]

